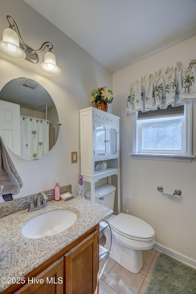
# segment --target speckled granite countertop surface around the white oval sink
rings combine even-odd
[[[0,219],[0,278],[24,277],[113,213],[107,207],[78,196],[67,201],[52,200],[47,203],[46,208],[38,211],[28,213],[25,209]],[[76,222],[65,231],[47,238],[29,239],[22,235],[22,227],[28,220],[56,209],[75,211]],[[9,285],[0,282],[0,292]]]

